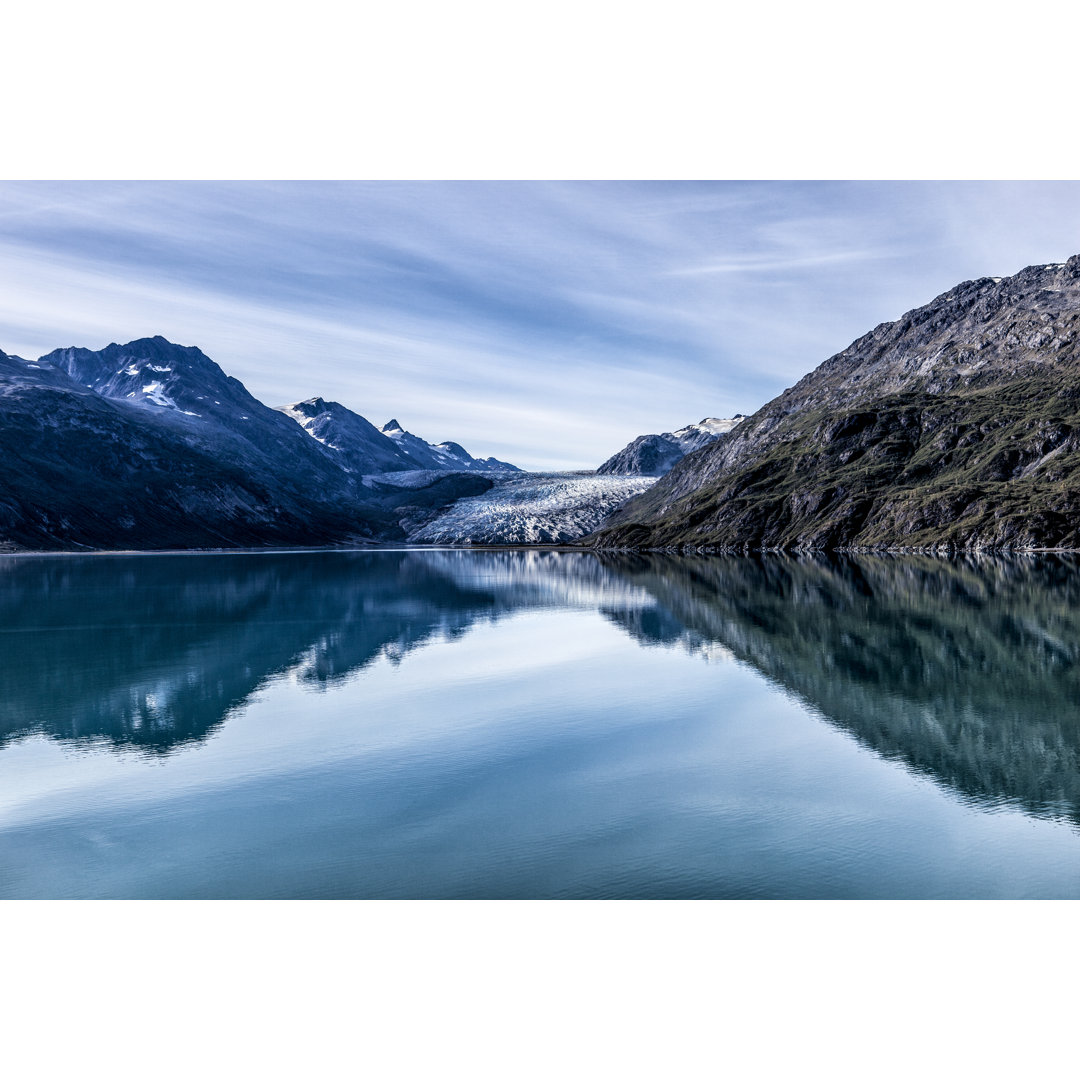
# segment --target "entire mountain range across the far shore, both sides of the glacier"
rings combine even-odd
[[[161,337],[0,353],[0,551],[410,537],[1080,550],[1080,255],[963,282],[753,416],[643,435],[588,484],[522,476],[322,397],[270,408]]]

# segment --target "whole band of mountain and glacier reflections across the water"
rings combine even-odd
[[[732,656],[966,799],[1080,824],[1080,567],[1056,556],[9,557],[0,747],[167,755],[275,678],[318,691],[538,607]]]

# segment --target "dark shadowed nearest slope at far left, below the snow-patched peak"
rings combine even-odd
[[[394,524],[375,508],[308,494],[281,471],[245,468],[211,443],[48,361],[0,354],[0,545],[326,543]],[[329,467],[325,475],[329,483]]]

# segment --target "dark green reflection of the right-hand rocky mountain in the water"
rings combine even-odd
[[[723,645],[881,756],[971,799],[1080,823],[1076,559],[615,565],[680,627],[678,640]]]

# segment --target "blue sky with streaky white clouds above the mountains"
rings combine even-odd
[[[4,181],[0,349],[161,334],[269,405],[592,469],[1077,253],[1070,181]]]

